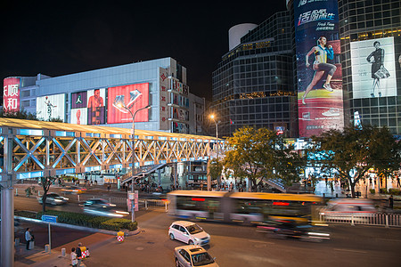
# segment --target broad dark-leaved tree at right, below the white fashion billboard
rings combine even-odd
[[[399,169],[401,143],[387,127],[364,125],[345,127],[312,137],[309,164],[323,172],[334,173],[349,185],[355,198],[356,183],[373,168],[378,174],[390,175]],[[316,156],[317,155],[317,156]]]

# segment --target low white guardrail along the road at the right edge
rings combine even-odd
[[[401,227],[401,214],[320,213],[320,220],[326,223],[350,223],[351,225],[361,224],[385,227]]]

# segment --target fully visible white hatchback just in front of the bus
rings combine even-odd
[[[205,246],[209,244],[210,236],[201,226],[187,221],[176,221],[168,228],[171,240],[177,239],[188,245]]]

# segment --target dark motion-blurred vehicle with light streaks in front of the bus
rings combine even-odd
[[[317,230],[311,224],[297,224],[293,220],[273,219],[268,220],[257,227],[258,231],[272,233],[281,238],[312,240],[321,242],[330,239],[330,233]]]

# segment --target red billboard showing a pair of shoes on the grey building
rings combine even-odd
[[[129,110],[135,114],[136,110],[149,105],[149,84],[110,87],[107,91],[107,96],[107,123],[132,122]],[[135,122],[146,121],[149,121],[149,109],[143,109],[135,116]]]

